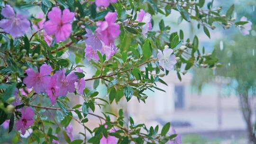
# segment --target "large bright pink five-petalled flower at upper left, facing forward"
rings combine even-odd
[[[69,9],[61,12],[60,8],[54,7],[47,16],[49,20],[44,25],[47,35],[55,35],[57,43],[66,40],[72,32],[74,13]]]

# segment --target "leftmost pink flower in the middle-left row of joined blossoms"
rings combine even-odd
[[[49,74],[53,71],[52,67],[43,64],[40,67],[40,72],[35,72],[32,68],[26,70],[27,77],[23,79],[23,83],[27,85],[27,88],[32,88],[37,92],[44,92],[45,85],[44,81],[49,79]]]

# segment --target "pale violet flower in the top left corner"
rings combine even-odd
[[[6,19],[0,20],[0,27],[14,38],[22,36],[30,29],[30,22],[27,18],[23,15],[15,14],[10,5],[5,5],[1,15]]]

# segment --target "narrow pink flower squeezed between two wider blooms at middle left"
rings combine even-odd
[[[54,74],[50,77],[49,80],[44,81],[46,84],[46,93],[49,96],[51,103],[54,105],[56,103],[56,99],[61,96],[60,95],[60,87],[57,84],[57,75]]]

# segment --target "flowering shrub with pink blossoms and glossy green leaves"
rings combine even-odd
[[[169,71],[176,71],[181,80],[181,74],[192,66],[220,65],[214,54],[204,54],[204,49],[199,48],[197,36],[184,39],[183,30],[170,33],[171,27],[164,20],[154,23],[154,15],[167,17],[171,10],[176,10],[180,22],[196,21],[198,29],[209,38],[209,28],[215,29],[216,24],[225,29],[239,27],[243,35],[251,27],[247,18],[234,22],[234,5],[226,15],[221,15],[221,8],[213,8],[212,2],[205,0],[0,3],[0,124],[9,127],[9,132],[15,126],[16,137],[28,132],[28,143],[60,144],[60,137],[64,136],[70,144],[180,144],[181,136],[170,123],[162,130],[159,126],[135,124],[132,117],[127,123],[122,109],[119,115],[103,112],[99,116],[94,113],[95,106],[101,108],[114,100],[119,103],[123,97],[127,102],[132,97],[146,102],[144,91],[162,90],[157,83],[167,85],[161,77]],[[29,13],[30,8],[41,9],[43,13]],[[22,11],[27,11],[26,15]],[[64,56],[66,51],[75,54],[75,63]],[[87,66],[83,59],[96,69],[91,78],[82,69]],[[93,89],[86,88],[86,81],[93,81]],[[98,96],[96,88],[100,83],[107,86],[107,100]],[[68,105],[73,97],[68,94],[84,101]],[[56,112],[56,116],[47,117],[46,111]],[[101,124],[88,128],[88,115],[98,117]],[[72,120],[84,128],[84,133],[80,133],[84,139],[74,139]]]

